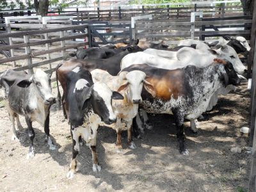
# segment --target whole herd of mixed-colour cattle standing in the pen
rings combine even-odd
[[[250,46],[237,36],[220,38],[211,44],[199,40],[182,40],[178,47],[168,48],[163,42],[153,44],[133,40],[130,44],[108,44],[100,48],[77,50],[71,59],[56,69],[59,107],[68,119],[72,136],[72,161],[67,177],[74,177],[76,157],[83,143],[90,146],[93,172],[99,172],[96,136],[99,125],[114,124],[116,147],[122,150],[121,132],[127,130],[129,148],[136,148],[136,136],[145,128],[152,129],[147,113],[167,113],[175,118],[180,154],[188,155],[184,145],[184,119],[196,129],[196,118],[212,109],[218,95],[236,90],[246,67]],[[44,127],[47,144],[56,147],[49,134],[50,107],[56,102],[51,93],[51,77],[38,69],[6,70],[0,76],[6,107],[12,122],[12,140],[18,140],[15,131],[22,125],[19,115],[25,116],[30,146],[28,157],[35,156],[32,122]],[[140,112],[138,113],[140,108]],[[132,129],[133,128],[133,129]]]

